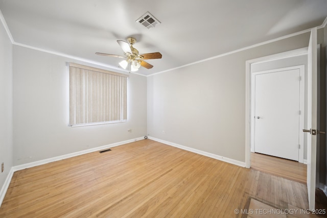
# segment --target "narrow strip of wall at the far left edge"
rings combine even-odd
[[[0,22],[0,166],[5,163],[0,190],[13,166],[12,89],[12,44]]]

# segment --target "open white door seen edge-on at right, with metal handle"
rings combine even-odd
[[[317,130],[317,28],[311,30],[308,47],[308,128]],[[315,209],[316,135],[308,134],[307,186],[309,209]]]

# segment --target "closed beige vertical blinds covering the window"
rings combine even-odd
[[[69,63],[69,125],[126,120],[127,78],[118,72]]]

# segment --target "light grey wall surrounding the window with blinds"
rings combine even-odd
[[[135,74],[130,74],[128,79],[127,122],[69,127],[68,68],[66,66],[66,62],[69,61],[90,65],[14,45],[14,165],[146,135],[147,79]],[[132,131],[128,132],[128,129]]]

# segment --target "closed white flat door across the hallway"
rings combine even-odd
[[[253,79],[254,151],[298,161],[300,69],[259,72]]]

